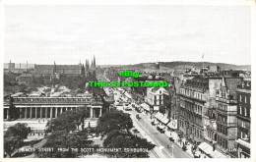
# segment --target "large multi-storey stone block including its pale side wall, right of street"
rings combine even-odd
[[[215,91],[221,78],[194,78],[181,84],[179,89],[178,127],[181,134],[194,142],[211,142],[214,138],[213,116],[209,114],[216,107]],[[212,132],[209,135],[208,132]],[[209,138],[207,137],[209,135]]]

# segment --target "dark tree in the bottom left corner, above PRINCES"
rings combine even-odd
[[[15,149],[24,145],[24,139],[30,134],[31,128],[26,124],[18,123],[9,127],[4,135],[4,150],[11,157]]]

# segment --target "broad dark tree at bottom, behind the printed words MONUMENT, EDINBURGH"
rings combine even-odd
[[[107,148],[148,148],[151,150],[155,144],[147,141],[145,138],[131,135],[119,130],[111,131],[103,141],[103,146]],[[109,153],[108,153],[109,154]],[[119,157],[149,157],[148,152],[118,152],[110,153]]]

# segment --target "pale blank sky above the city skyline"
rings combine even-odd
[[[248,6],[4,6],[5,63],[250,65],[250,48]]]

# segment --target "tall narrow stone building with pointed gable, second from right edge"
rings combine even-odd
[[[223,78],[220,89],[217,89],[217,148],[224,154],[232,156],[237,135],[237,83],[241,79]]]

